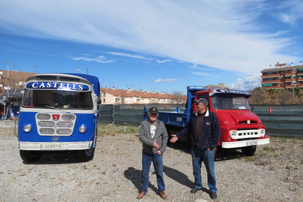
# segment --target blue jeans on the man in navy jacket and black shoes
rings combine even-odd
[[[192,167],[195,177],[194,186],[198,189],[202,188],[201,183],[201,164],[204,162],[207,171],[207,182],[210,192],[217,192],[216,178],[215,178],[215,163],[214,163],[214,150],[200,150],[197,147],[191,148]]]

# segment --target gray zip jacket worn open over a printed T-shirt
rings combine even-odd
[[[153,147],[155,140],[160,147],[160,151],[163,154],[166,149],[168,134],[164,123],[156,120],[157,126],[155,131],[155,136],[151,139],[151,122],[150,120],[145,120],[141,123],[139,129],[139,140],[142,142],[142,151],[148,154],[155,154],[158,151],[157,148]]]

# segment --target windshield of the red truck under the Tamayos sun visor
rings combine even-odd
[[[249,110],[247,98],[238,95],[214,95],[211,96],[211,104],[214,109],[244,109]]]

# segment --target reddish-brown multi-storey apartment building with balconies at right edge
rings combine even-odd
[[[303,65],[294,66],[286,63],[275,64],[275,68],[261,71],[261,88],[263,89],[292,89],[298,87],[303,90]],[[270,66],[271,67],[271,66]]]

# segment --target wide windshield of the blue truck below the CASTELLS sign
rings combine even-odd
[[[92,92],[25,89],[22,107],[93,109]]]

